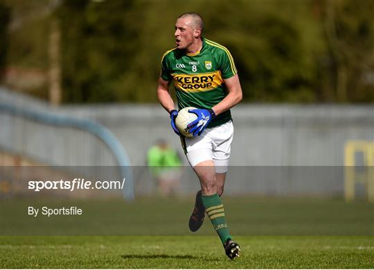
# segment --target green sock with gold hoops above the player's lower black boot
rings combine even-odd
[[[227,239],[232,239],[229,234],[229,229],[227,228],[226,218],[224,217],[224,208],[220,196],[217,194],[204,196],[202,195],[202,201],[208,214],[209,219],[211,219],[215,231],[220,236],[222,244],[225,244]]]

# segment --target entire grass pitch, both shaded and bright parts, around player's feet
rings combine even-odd
[[[372,203],[225,197],[229,229],[242,249],[240,258],[233,261],[224,254],[208,219],[197,233],[190,233],[188,218],[193,203],[193,196],[139,198],[134,203],[122,199],[3,199],[0,266],[2,269],[374,268]],[[28,205],[78,205],[84,214],[28,217]]]

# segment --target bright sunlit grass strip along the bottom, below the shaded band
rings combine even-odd
[[[213,236],[1,237],[1,268],[303,268],[374,267],[373,237],[236,237],[231,261]]]

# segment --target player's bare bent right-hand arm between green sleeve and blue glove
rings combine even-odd
[[[220,115],[220,113],[229,110],[242,100],[242,87],[240,86],[239,76],[235,74],[231,78],[224,79],[224,84],[227,89],[227,96],[220,103],[217,103],[212,110],[215,115]]]

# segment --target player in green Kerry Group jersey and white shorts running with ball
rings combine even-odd
[[[172,129],[178,115],[169,93],[170,83],[176,89],[178,108],[190,110],[197,119],[190,123],[194,137],[181,136],[188,162],[197,174],[202,189],[196,194],[190,217],[190,230],[202,226],[205,212],[220,236],[226,255],[239,257],[240,247],[233,242],[220,199],[228,169],[233,122],[230,108],[242,100],[238,72],[229,50],[202,37],[204,22],[197,13],[180,15],[175,24],[176,47],[166,51],[161,60],[157,96],[161,106],[170,113]]]

